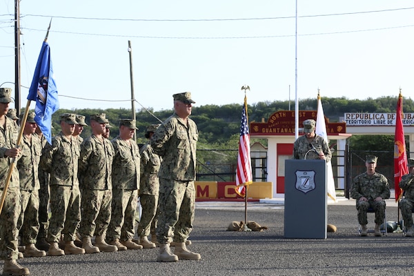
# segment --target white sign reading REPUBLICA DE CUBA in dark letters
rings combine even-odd
[[[344,113],[346,126],[395,126],[395,113]],[[403,113],[402,124],[414,126],[414,113]]]

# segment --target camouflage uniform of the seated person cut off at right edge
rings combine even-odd
[[[408,173],[403,175],[400,181],[400,188],[404,190],[404,198],[400,200],[398,207],[400,207],[402,219],[404,219],[404,226],[409,229],[413,226],[412,210],[414,208],[414,175]]]

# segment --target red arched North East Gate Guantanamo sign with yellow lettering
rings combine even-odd
[[[303,128],[303,121],[316,120],[316,110],[299,111],[299,128]],[[346,133],[346,124],[330,123],[325,117],[326,132],[328,135]],[[250,135],[295,135],[295,111],[280,110],[261,123],[250,122]]]

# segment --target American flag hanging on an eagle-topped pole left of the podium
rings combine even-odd
[[[247,98],[244,96],[242,124],[240,126],[239,155],[237,157],[237,174],[235,191],[241,197],[246,196],[248,184],[253,183],[252,163],[250,159],[250,135],[248,132]]]

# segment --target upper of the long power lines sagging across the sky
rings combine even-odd
[[[333,14],[311,14],[311,15],[302,15],[299,18],[306,17],[333,17],[333,16],[342,16],[342,15],[352,15],[352,14],[367,14],[375,12],[394,12],[397,10],[412,10],[414,7],[408,8],[395,8],[395,9],[386,9],[386,10],[368,10],[362,12],[342,12],[342,13],[333,13]],[[6,14],[3,14],[6,15]],[[121,18],[99,18],[99,17],[63,17],[56,15],[44,15],[44,14],[23,14],[22,17],[55,17],[61,19],[77,19],[77,20],[104,20],[104,21],[249,21],[249,20],[275,20],[275,19],[292,19],[295,16],[288,17],[253,17],[253,18],[233,18],[233,19],[121,19]]]

